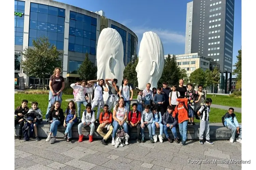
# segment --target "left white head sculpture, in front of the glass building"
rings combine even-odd
[[[124,76],[124,46],[122,37],[113,28],[104,28],[97,44],[97,79],[117,79],[120,86]],[[104,92],[103,99],[108,99]]]

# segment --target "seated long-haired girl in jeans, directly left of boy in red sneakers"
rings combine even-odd
[[[66,116],[64,118],[64,123],[63,123],[63,126],[66,128],[63,138],[67,139],[67,142],[69,142],[70,139],[72,138],[71,128],[75,122],[77,122],[75,103],[73,100],[71,100],[66,109]]]

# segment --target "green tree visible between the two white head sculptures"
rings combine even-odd
[[[132,62],[128,63],[124,70],[124,78],[129,80],[129,84],[132,84],[133,87],[138,87],[138,80],[137,80],[137,72],[136,66],[138,64],[139,58],[137,58],[132,64]]]

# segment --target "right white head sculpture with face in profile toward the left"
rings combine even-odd
[[[151,84],[151,89],[157,88],[164,63],[163,45],[159,36],[151,31],[143,33],[139,49],[139,62],[136,66],[140,90],[145,89],[147,83]]]

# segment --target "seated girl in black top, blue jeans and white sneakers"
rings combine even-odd
[[[64,113],[60,108],[59,101],[55,101],[49,112],[49,123],[50,123],[50,133],[46,138],[46,142],[50,141],[50,143],[54,143],[56,141],[56,135],[58,126],[64,122]],[[51,135],[53,134],[53,138],[51,139]]]

